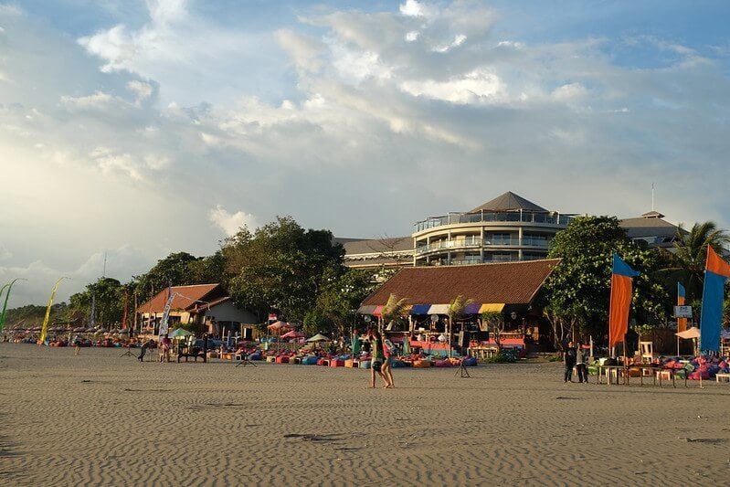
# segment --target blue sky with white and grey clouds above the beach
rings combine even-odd
[[[506,191],[730,228],[730,3],[0,0],[10,306],[291,215],[409,235]],[[104,264],[106,260],[106,265]]]

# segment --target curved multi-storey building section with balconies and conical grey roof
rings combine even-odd
[[[415,266],[545,259],[550,241],[574,214],[561,214],[508,192],[464,213],[416,224]]]

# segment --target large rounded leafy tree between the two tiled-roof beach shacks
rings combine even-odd
[[[332,233],[304,230],[291,217],[277,217],[254,233],[241,228],[221,250],[231,297],[259,319],[276,309],[302,321],[326,278],[344,272],[344,249],[333,244]]]

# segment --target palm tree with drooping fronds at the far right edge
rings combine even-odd
[[[724,229],[717,228],[714,221],[695,223],[690,231],[680,224],[674,241],[672,267],[662,271],[682,281],[687,290],[687,301],[690,302],[702,294],[707,245],[724,255],[728,244],[730,235]]]

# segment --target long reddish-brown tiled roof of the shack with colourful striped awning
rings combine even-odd
[[[445,304],[460,294],[474,302],[527,304],[560,259],[472,266],[413,267],[399,270],[363,305],[387,302],[391,293],[410,304]]]

